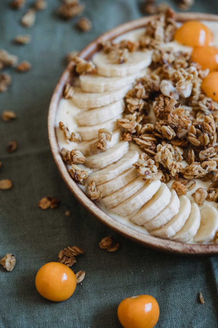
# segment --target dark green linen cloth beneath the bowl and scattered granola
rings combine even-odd
[[[11,190],[0,191],[0,257],[12,252],[17,259],[12,272],[0,268],[0,327],[121,327],[117,306],[123,298],[137,294],[150,294],[158,300],[157,327],[218,327],[217,258],[165,255],[116,235],[74,199],[50,153],[47,112],[65,67],[65,54],[81,50],[116,25],[141,17],[138,2],[83,0],[84,14],[93,22],[88,33],[75,29],[78,18],[65,22],[55,16],[58,0],[48,1],[47,10],[37,13],[30,29],[19,24],[26,9],[10,10],[8,2],[0,0],[0,46],[20,60],[29,60],[32,70],[24,74],[8,70],[13,82],[0,94],[0,112],[14,110],[18,115],[15,121],[0,121],[0,179],[13,181]],[[217,0],[195,0],[192,9],[218,13]],[[30,33],[32,42],[14,45],[11,40],[22,33]],[[16,140],[19,148],[8,154],[6,145],[11,140]],[[37,203],[47,195],[61,199],[61,206],[40,210]],[[65,216],[66,210],[70,216]],[[109,234],[121,245],[115,253],[98,247]],[[35,275],[69,245],[85,249],[73,270],[85,270],[86,277],[70,299],[50,302],[37,293]],[[200,291],[204,305],[199,304]]]

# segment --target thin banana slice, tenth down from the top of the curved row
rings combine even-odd
[[[145,182],[141,176],[137,177],[135,180],[131,181],[125,187],[117,190],[115,193],[103,197],[100,201],[100,205],[104,205],[106,208],[115,207],[127,198],[131,197],[137,193],[147,182]]]

